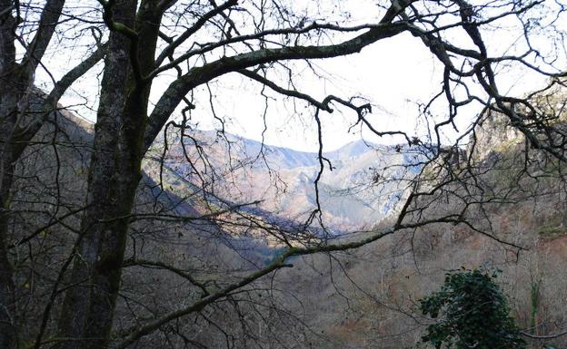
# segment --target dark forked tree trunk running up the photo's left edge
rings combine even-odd
[[[0,348],[16,348],[17,313],[14,271],[8,256],[10,228],[10,195],[14,183],[15,162],[25,150],[26,142],[39,130],[36,127],[20,134],[25,119],[26,98],[34,82],[35,68],[55,33],[65,0],[45,3],[31,50],[22,63],[15,60],[14,0],[0,0]],[[37,125],[41,127],[41,122]]]

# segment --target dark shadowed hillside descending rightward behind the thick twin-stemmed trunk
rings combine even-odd
[[[44,318],[56,318],[68,286],[67,261],[81,233],[92,140],[91,124],[61,111],[36,135],[16,166],[8,238],[15,286],[22,295],[18,314],[24,324],[20,334],[24,345],[34,344]],[[214,290],[234,282],[277,252],[249,234],[241,224],[244,219],[228,217],[231,211],[203,217],[211,210],[194,206],[195,202],[160,188],[144,175],[124,257],[116,336],[132,331],[140,321],[199,299],[204,285]],[[46,304],[51,307],[48,313]],[[46,324],[46,333],[55,334],[55,322]],[[212,324],[188,321],[184,326],[209,341],[222,341],[211,332]],[[158,333],[140,345],[161,343]]]

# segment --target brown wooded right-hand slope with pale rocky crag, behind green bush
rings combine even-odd
[[[464,224],[437,223],[351,253],[305,257],[297,264],[301,272],[286,271],[281,283],[304,295],[307,317],[320,330],[314,347],[426,347],[420,338],[433,320],[420,314],[417,300],[438,289],[446,272],[462,267],[501,271],[498,282],[511,299],[512,315],[526,333],[542,336],[526,337],[530,348],[566,347],[564,164],[528,149],[535,160],[526,165],[522,136],[499,118],[484,121],[476,137],[478,153],[469,155],[485,191],[470,194],[483,203],[467,220],[488,236]],[[459,208],[458,184],[447,189],[455,195],[427,202],[431,209],[423,214]]]

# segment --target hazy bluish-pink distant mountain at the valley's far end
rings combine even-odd
[[[171,173],[165,180],[179,196],[204,189],[234,204],[261,200],[254,212],[296,224],[316,208],[314,180],[320,163],[315,152],[216,131],[193,131],[183,142],[168,144],[164,163]],[[395,212],[405,185],[397,179],[412,178],[417,170],[412,163],[419,159],[410,150],[362,140],[323,156],[332,166],[323,161],[319,181],[323,223],[336,233],[372,228]],[[148,166],[146,171],[155,173]]]

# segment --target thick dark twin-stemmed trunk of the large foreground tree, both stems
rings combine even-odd
[[[135,1],[114,7],[114,21],[134,27]],[[144,43],[152,46],[153,43]],[[149,85],[129,76],[131,41],[111,34],[95,125],[79,256],[59,321],[60,348],[105,348],[120,286],[128,216],[134,206]],[[151,54],[153,59],[153,52]]]

